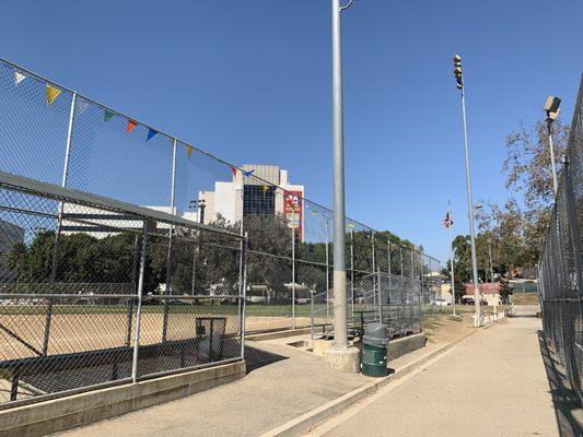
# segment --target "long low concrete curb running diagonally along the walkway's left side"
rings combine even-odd
[[[365,383],[362,387],[359,387],[358,389],[354,389],[322,406],[318,406],[317,409],[314,409],[312,411],[308,411],[307,413],[302,414],[300,417],[296,417],[275,429],[271,429],[267,433],[264,433],[260,435],[260,437],[293,437],[299,436],[303,433],[307,433],[311,428],[313,428],[318,423],[325,421],[326,418],[333,416],[334,414],[338,413],[339,411],[346,409],[347,406],[350,406],[352,403],[374,393],[376,390],[378,390],[381,387],[384,387],[393,381],[398,380],[399,378],[404,377],[405,375],[412,371],[416,367],[419,367],[430,361],[431,358],[444,353],[445,351],[452,349],[457,343],[464,341],[468,336],[475,334],[476,332],[480,331],[479,329],[476,329],[474,331],[468,332],[467,334],[460,336],[457,340],[454,340],[453,342],[441,346],[440,349],[430,352],[419,359],[401,367],[395,370],[394,374],[388,375],[384,378],[381,378],[375,381],[371,381],[369,383]]]

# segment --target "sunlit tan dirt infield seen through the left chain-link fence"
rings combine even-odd
[[[172,309],[167,318],[167,334],[170,341],[194,339],[196,320],[201,317],[224,317],[226,319],[225,334],[236,334],[240,331],[240,320],[236,306],[214,306],[212,310],[198,312],[174,312]],[[219,310],[220,309],[220,310]],[[125,311],[54,314],[50,320],[50,334],[47,355],[69,354],[75,352],[98,351],[126,346],[128,338],[128,316]],[[140,327],[140,345],[162,342],[164,315],[158,312],[142,312]],[[0,315],[0,362],[35,357],[36,354],[24,343],[28,343],[37,351],[42,351],[45,336],[45,314],[9,314]],[[296,318],[296,327],[308,327],[310,318]],[[136,315],[131,317],[129,345],[133,346]],[[247,317],[245,330],[247,332],[291,328],[289,317]],[[7,330],[10,332],[7,332]],[[23,340],[20,341],[19,339]]]

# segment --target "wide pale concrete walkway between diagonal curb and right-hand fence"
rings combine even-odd
[[[540,328],[534,317],[497,323],[310,436],[559,436]]]

